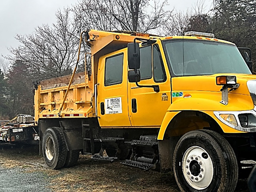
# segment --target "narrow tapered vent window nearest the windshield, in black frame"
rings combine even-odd
[[[155,82],[164,82],[166,80],[161,52],[156,44],[153,47],[153,71]]]

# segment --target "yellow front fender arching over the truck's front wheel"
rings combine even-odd
[[[214,119],[223,131],[226,133],[239,132],[227,125],[224,125],[219,121],[215,115],[214,111],[242,111],[251,110],[254,105],[251,96],[241,95],[241,94],[231,94],[229,93],[229,103],[227,106],[221,104],[221,93],[220,92],[206,92],[206,91],[190,91],[191,97],[176,98],[175,101],[170,104],[166,115],[163,118],[158,140],[163,140],[164,134],[170,122],[182,111],[199,111],[203,112]]]

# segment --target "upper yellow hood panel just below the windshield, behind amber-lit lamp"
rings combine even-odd
[[[250,95],[247,88],[248,80],[256,80],[256,75],[245,75],[237,73],[229,74],[214,74],[209,76],[186,76],[172,78],[172,91],[213,91],[221,92],[221,85],[216,85],[217,76],[236,76],[236,82],[239,83],[239,88],[233,90],[233,94]]]

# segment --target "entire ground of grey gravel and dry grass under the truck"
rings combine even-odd
[[[82,156],[73,168],[51,170],[37,146],[0,144],[0,191],[180,191],[172,174],[143,171]],[[239,179],[236,192],[249,192]]]

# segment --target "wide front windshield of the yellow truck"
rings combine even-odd
[[[234,45],[204,40],[163,41],[172,76],[212,75],[215,73],[251,74]]]

